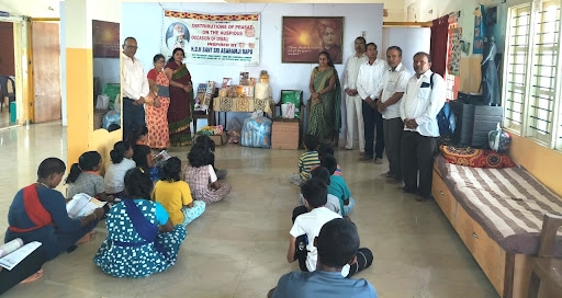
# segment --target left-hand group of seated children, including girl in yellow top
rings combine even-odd
[[[150,164],[146,163],[148,159],[139,167],[131,159],[135,146],[126,141],[114,145],[105,177],[98,174],[101,156],[95,151],[85,152],[67,177],[67,197],[86,193],[115,205],[76,219],[66,210],[68,199],[54,190],[63,180],[65,163],[56,158],[44,160],[37,170],[37,182],[18,192],[9,209],[10,227],[4,241],[21,238],[24,243],[43,243],[30,259],[37,264],[11,274],[10,287],[25,277],[40,278],[44,262],[90,241],[93,228],[104,216],[109,234],[94,256],[94,263],[103,272],[119,277],[142,277],[173,265],[187,236],[186,226],[201,216],[206,205],[223,199],[232,190],[231,185],[217,182],[213,168],[214,144],[205,138],[209,137],[198,138],[183,171],[179,158],[162,162],[156,183],[151,180]]]

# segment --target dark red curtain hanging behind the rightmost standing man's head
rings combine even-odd
[[[447,67],[447,43],[449,42],[449,15],[432,21],[431,42],[431,70],[445,78]]]

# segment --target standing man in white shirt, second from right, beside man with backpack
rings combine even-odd
[[[400,117],[400,103],[406,91],[412,73],[402,65],[402,48],[391,46],[386,49],[389,69],[384,72],[382,91],[376,107],[382,114],[384,147],[389,159],[389,172],[384,173],[387,183],[402,182],[401,142],[404,122]]]

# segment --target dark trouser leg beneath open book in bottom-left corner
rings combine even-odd
[[[11,271],[2,268],[0,271],[0,295],[41,270],[45,261],[45,253],[37,249]]]

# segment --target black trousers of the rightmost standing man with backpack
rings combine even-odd
[[[402,175],[405,190],[427,198],[431,195],[434,153],[437,138],[419,135],[417,131],[402,133]],[[419,172],[419,185],[417,175]]]

